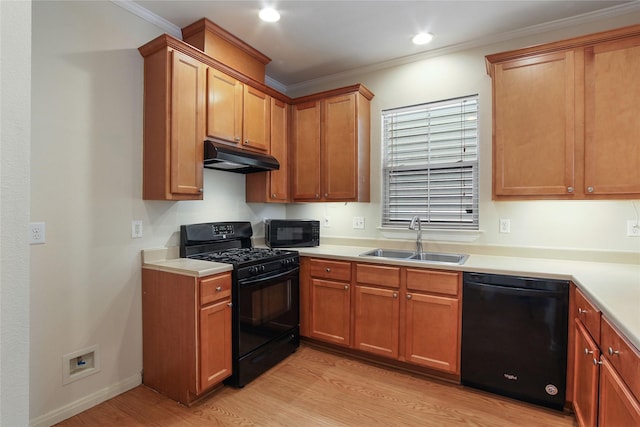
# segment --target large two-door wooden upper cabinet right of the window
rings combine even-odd
[[[640,25],[486,59],[494,199],[640,195]]]

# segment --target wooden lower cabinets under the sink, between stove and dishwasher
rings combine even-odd
[[[302,266],[303,336],[459,375],[461,273],[320,258]]]

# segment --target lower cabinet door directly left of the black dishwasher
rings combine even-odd
[[[460,305],[456,298],[407,294],[407,361],[459,373],[459,319]]]

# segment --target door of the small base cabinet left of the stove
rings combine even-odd
[[[200,309],[198,393],[231,375],[231,300]]]

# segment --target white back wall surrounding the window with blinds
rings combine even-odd
[[[637,10],[637,9],[636,9]],[[371,104],[371,203],[299,204],[287,207],[290,218],[331,218],[330,228],[321,228],[321,236],[382,239],[380,179],[381,110],[448,99],[474,93],[480,102],[480,229],[475,245],[526,246],[640,253],[640,239],[626,236],[626,220],[635,219],[635,203],[640,201],[522,201],[491,200],[491,79],[486,73],[487,54],[518,49],[640,22],[640,13],[589,22],[535,36],[503,41],[491,46],[443,54],[392,68],[349,73],[335,79],[321,79],[311,87],[297,89],[300,96],[332,87],[363,83],[375,94]],[[353,216],[365,216],[364,230],[352,228]],[[498,231],[498,220],[511,220],[511,233]],[[407,239],[414,232],[404,233]],[[388,235],[387,235],[388,236]],[[468,233],[454,238],[467,239]],[[427,233],[427,245],[441,244],[441,237]],[[444,238],[450,240],[451,236]],[[430,241],[430,242],[429,242]],[[438,242],[438,243],[434,243]],[[637,257],[636,257],[637,258]]]

